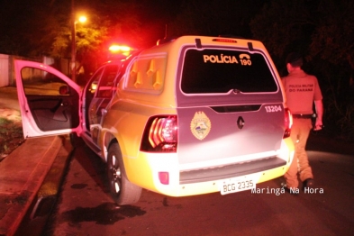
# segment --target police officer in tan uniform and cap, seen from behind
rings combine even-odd
[[[293,126],[291,139],[295,145],[295,156],[285,174],[286,190],[290,193],[298,193],[298,177],[304,187],[313,187],[313,171],[309,165],[305,151],[306,141],[311,129],[319,131],[322,129],[322,92],[318,85],[317,78],[308,75],[301,68],[303,58],[300,54],[293,52],[286,57],[286,69],[288,76],[282,78],[286,90],[286,104],[293,114]],[[316,109],[316,122],[313,123],[313,102]],[[291,190],[291,191],[290,191]],[[295,191],[293,191],[295,190]]]

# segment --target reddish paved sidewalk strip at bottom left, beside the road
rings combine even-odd
[[[63,140],[28,139],[0,165],[0,235],[12,236],[41,188]]]

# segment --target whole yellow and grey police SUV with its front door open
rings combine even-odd
[[[184,196],[255,188],[286,173],[292,117],[259,41],[183,36],[107,62],[83,91],[16,60],[25,138],[76,133],[107,163],[117,204],[141,188]]]

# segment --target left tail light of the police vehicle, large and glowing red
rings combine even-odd
[[[149,119],[141,141],[142,151],[177,151],[177,116],[153,116]]]

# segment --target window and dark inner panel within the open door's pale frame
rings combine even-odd
[[[41,132],[78,126],[78,93],[61,78],[40,68],[22,68],[24,95]]]

